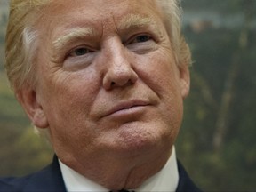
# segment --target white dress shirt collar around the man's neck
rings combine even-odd
[[[109,191],[92,180],[88,180],[83,175],[75,172],[60,160],[60,170],[68,192],[73,191]],[[179,182],[179,172],[176,160],[175,148],[172,148],[172,156],[169,158],[164,168],[154,176],[146,180],[140,188],[135,188],[136,192],[142,191],[175,191]]]

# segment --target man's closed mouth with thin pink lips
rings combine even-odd
[[[139,113],[149,103],[143,100],[131,100],[117,104],[110,108],[105,116],[127,116]]]

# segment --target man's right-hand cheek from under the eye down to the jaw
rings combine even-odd
[[[143,83],[156,92],[160,100],[159,118],[164,118],[164,122],[172,126],[173,134],[177,134],[183,116],[183,99],[180,94],[180,72],[172,54],[158,52],[152,57],[143,58],[140,63]]]

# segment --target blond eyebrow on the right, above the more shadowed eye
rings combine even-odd
[[[121,30],[128,28],[139,28],[143,26],[153,26],[155,29],[157,29],[156,20],[153,20],[150,17],[142,17],[138,14],[128,14],[118,24],[118,28]]]

